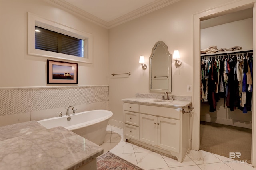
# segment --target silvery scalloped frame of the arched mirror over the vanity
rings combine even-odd
[[[154,51],[155,51],[155,49],[158,45],[162,45],[164,47],[165,53],[168,56],[168,63],[169,63],[169,67],[168,67],[168,70],[169,70],[168,71],[169,88],[168,89],[154,89],[154,88],[152,88],[152,76],[151,76],[151,72],[152,72],[152,67],[151,67],[152,63],[151,62],[152,62],[152,60],[151,59],[154,56]],[[156,44],[152,48],[152,52],[151,52],[151,55],[149,57],[149,91],[150,92],[172,92],[172,54],[169,53],[168,47],[163,41],[156,42]]]

